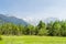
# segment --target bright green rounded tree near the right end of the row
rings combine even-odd
[[[53,24],[53,35],[55,36],[59,36],[61,35],[61,23],[58,21],[55,21],[54,24]]]

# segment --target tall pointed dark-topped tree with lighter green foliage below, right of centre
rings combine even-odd
[[[47,35],[46,24],[42,21],[38,23],[38,35]]]

